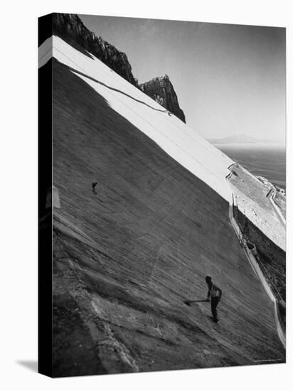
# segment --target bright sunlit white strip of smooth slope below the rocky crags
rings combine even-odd
[[[170,117],[158,103],[94,56],[81,53],[55,36],[53,56],[74,70],[76,75],[105,97],[116,112],[154,140],[167,154],[226,200],[230,199],[230,186],[225,176],[233,161],[228,156],[198,136],[176,116]]]

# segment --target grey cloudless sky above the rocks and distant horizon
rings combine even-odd
[[[139,82],[169,75],[198,134],[285,143],[285,28],[80,15]]]

